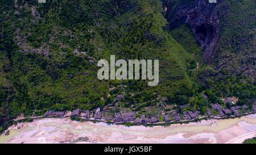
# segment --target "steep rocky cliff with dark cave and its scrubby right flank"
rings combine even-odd
[[[214,69],[255,78],[255,4],[254,0],[163,0],[163,9],[170,30],[186,24],[205,62]]]

